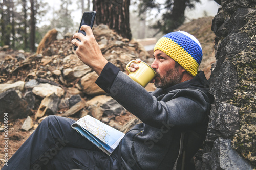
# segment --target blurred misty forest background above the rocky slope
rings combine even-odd
[[[103,6],[95,24],[105,23],[129,39],[158,39],[183,22],[214,16],[220,7],[212,0],[0,0],[0,46],[35,52],[49,30],[57,29],[58,39],[74,34],[83,12],[99,12]]]

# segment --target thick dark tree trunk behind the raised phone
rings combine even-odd
[[[97,12],[96,24],[103,23],[119,35],[131,40],[132,34],[129,22],[130,0],[94,0],[93,10]]]

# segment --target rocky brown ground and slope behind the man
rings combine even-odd
[[[179,28],[201,42],[204,58],[199,69],[205,71],[207,78],[211,64],[215,63],[211,20],[212,17],[200,18]],[[130,60],[152,61],[152,51],[146,52],[136,40],[124,39],[105,25],[93,31],[104,57],[122,71]],[[50,114],[75,120],[89,114],[123,132],[138,122],[95,85],[97,75],[77,58],[71,40],[67,35],[40,54],[14,51],[7,46],[0,48],[0,127],[4,140],[4,113],[7,113],[9,158]],[[155,87],[151,84],[146,89],[152,91]],[[0,148],[2,167],[5,143],[0,142]]]

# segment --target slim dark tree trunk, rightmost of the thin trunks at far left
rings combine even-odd
[[[30,10],[31,10],[31,19],[30,19],[30,48],[32,52],[35,52],[35,9],[34,9],[34,0],[30,0]]]

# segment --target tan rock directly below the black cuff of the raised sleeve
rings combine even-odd
[[[83,76],[81,78],[82,91],[93,96],[105,94],[105,92],[97,84],[95,84],[97,78],[98,75],[94,71]]]

